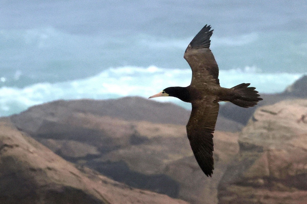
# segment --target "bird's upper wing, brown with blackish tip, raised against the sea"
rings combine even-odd
[[[214,83],[219,82],[219,67],[215,58],[209,49],[210,37],[213,30],[210,25],[205,25],[199,33],[192,39],[191,43],[185,50],[184,58],[192,69],[193,83]]]

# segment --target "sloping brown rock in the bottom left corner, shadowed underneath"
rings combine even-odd
[[[6,204],[187,204],[76,168],[7,119],[0,119],[0,203]]]

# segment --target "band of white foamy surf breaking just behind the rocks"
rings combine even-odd
[[[163,69],[155,66],[118,67],[104,70],[100,74],[82,80],[62,83],[37,83],[25,88],[2,87],[0,89],[0,116],[19,113],[30,106],[57,99],[107,99],[123,96],[149,97],[171,86],[188,86],[192,72],[190,69]],[[251,83],[260,93],[283,91],[302,74],[267,74],[256,67],[220,70],[223,87],[233,87],[239,83]],[[190,106],[173,97],[155,100],[175,102]]]

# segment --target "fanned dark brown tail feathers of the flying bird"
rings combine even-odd
[[[250,83],[241,83],[235,87],[232,87],[234,91],[239,94],[239,97],[231,102],[237,106],[248,108],[255,106],[262,98],[259,98],[258,91],[255,87],[248,87]]]

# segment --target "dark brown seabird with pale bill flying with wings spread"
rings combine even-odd
[[[219,101],[248,108],[255,106],[259,98],[255,87],[241,83],[232,88],[223,88],[219,82],[219,68],[210,50],[211,26],[204,28],[192,39],[185,50],[184,58],[192,69],[192,81],[188,87],[168,87],[156,95],[173,96],[192,103],[187,135],[196,161],[207,176],[213,173],[213,132],[219,113]]]

